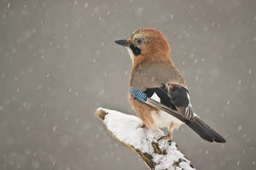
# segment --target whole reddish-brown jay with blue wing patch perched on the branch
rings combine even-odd
[[[183,75],[170,57],[170,45],[166,37],[154,28],[139,28],[131,37],[116,40],[130,54],[129,101],[132,109],[150,129],[167,128],[165,138],[172,140],[173,132],[183,123],[188,125],[202,139],[225,143],[226,140],[195,114],[189,97],[189,89]],[[147,105],[137,99],[137,90],[153,100]],[[174,111],[176,115],[170,114]]]

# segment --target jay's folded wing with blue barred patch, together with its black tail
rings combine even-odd
[[[169,83],[160,88],[147,88],[144,92],[131,87],[131,95],[147,105],[176,116],[201,136],[202,139],[209,142],[226,142],[221,135],[193,112],[189,92],[181,85]]]

